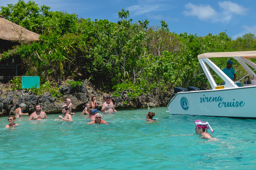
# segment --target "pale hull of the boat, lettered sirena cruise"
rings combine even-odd
[[[167,105],[170,114],[256,118],[256,86],[178,92]]]

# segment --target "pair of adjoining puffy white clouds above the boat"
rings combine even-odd
[[[185,5],[186,11],[183,11],[183,14],[196,16],[202,21],[227,23],[233,20],[236,15],[245,15],[248,11],[248,9],[242,5],[230,1],[219,2],[219,6],[221,11],[217,12],[210,5],[188,3]]]

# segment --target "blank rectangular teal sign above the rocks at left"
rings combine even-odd
[[[31,89],[39,88],[40,77],[39,76],[22,76],[21,88]]]

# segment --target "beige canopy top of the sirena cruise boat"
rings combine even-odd
[[[256,51],[247,52],[221,52],[221,53],[204,53],[198,55],[198,60],[201,58],[213,58],[213,57],[244,57],[244,58],[256,58]]]

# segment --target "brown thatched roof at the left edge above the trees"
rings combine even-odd
[[[39,35],[29,31],[0,15],[0,39],[11,41],[37,41]]]

